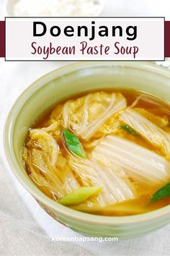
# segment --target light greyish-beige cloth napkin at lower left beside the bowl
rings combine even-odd
[[[0,255],[92,255],[71,242],[52,242],[14,188],[0,161]]]

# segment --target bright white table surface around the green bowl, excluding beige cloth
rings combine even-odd
[[[36,0],[35,0],[36,1]],[[0,0],[0,10],[4,4]],[[170,20],[170,0],[108,0],[102,12],[112,16],[165,16]],[[0,11],[1,12],[1,11]],[[4,14],[1,12],[0,20]],[[2,130],[6,114],[22,91],[43,74],[67,64],[66,62],[5,62],[0,59],[0,158],[17,187],[21,200],[27,205],[35,221],[48,236],[80,236],[45,213],[28,192],[17,182],[6,164],[2,144]],[[122,242],[76,242],[96,255],[170,255],[170,225],[148,236]]]

